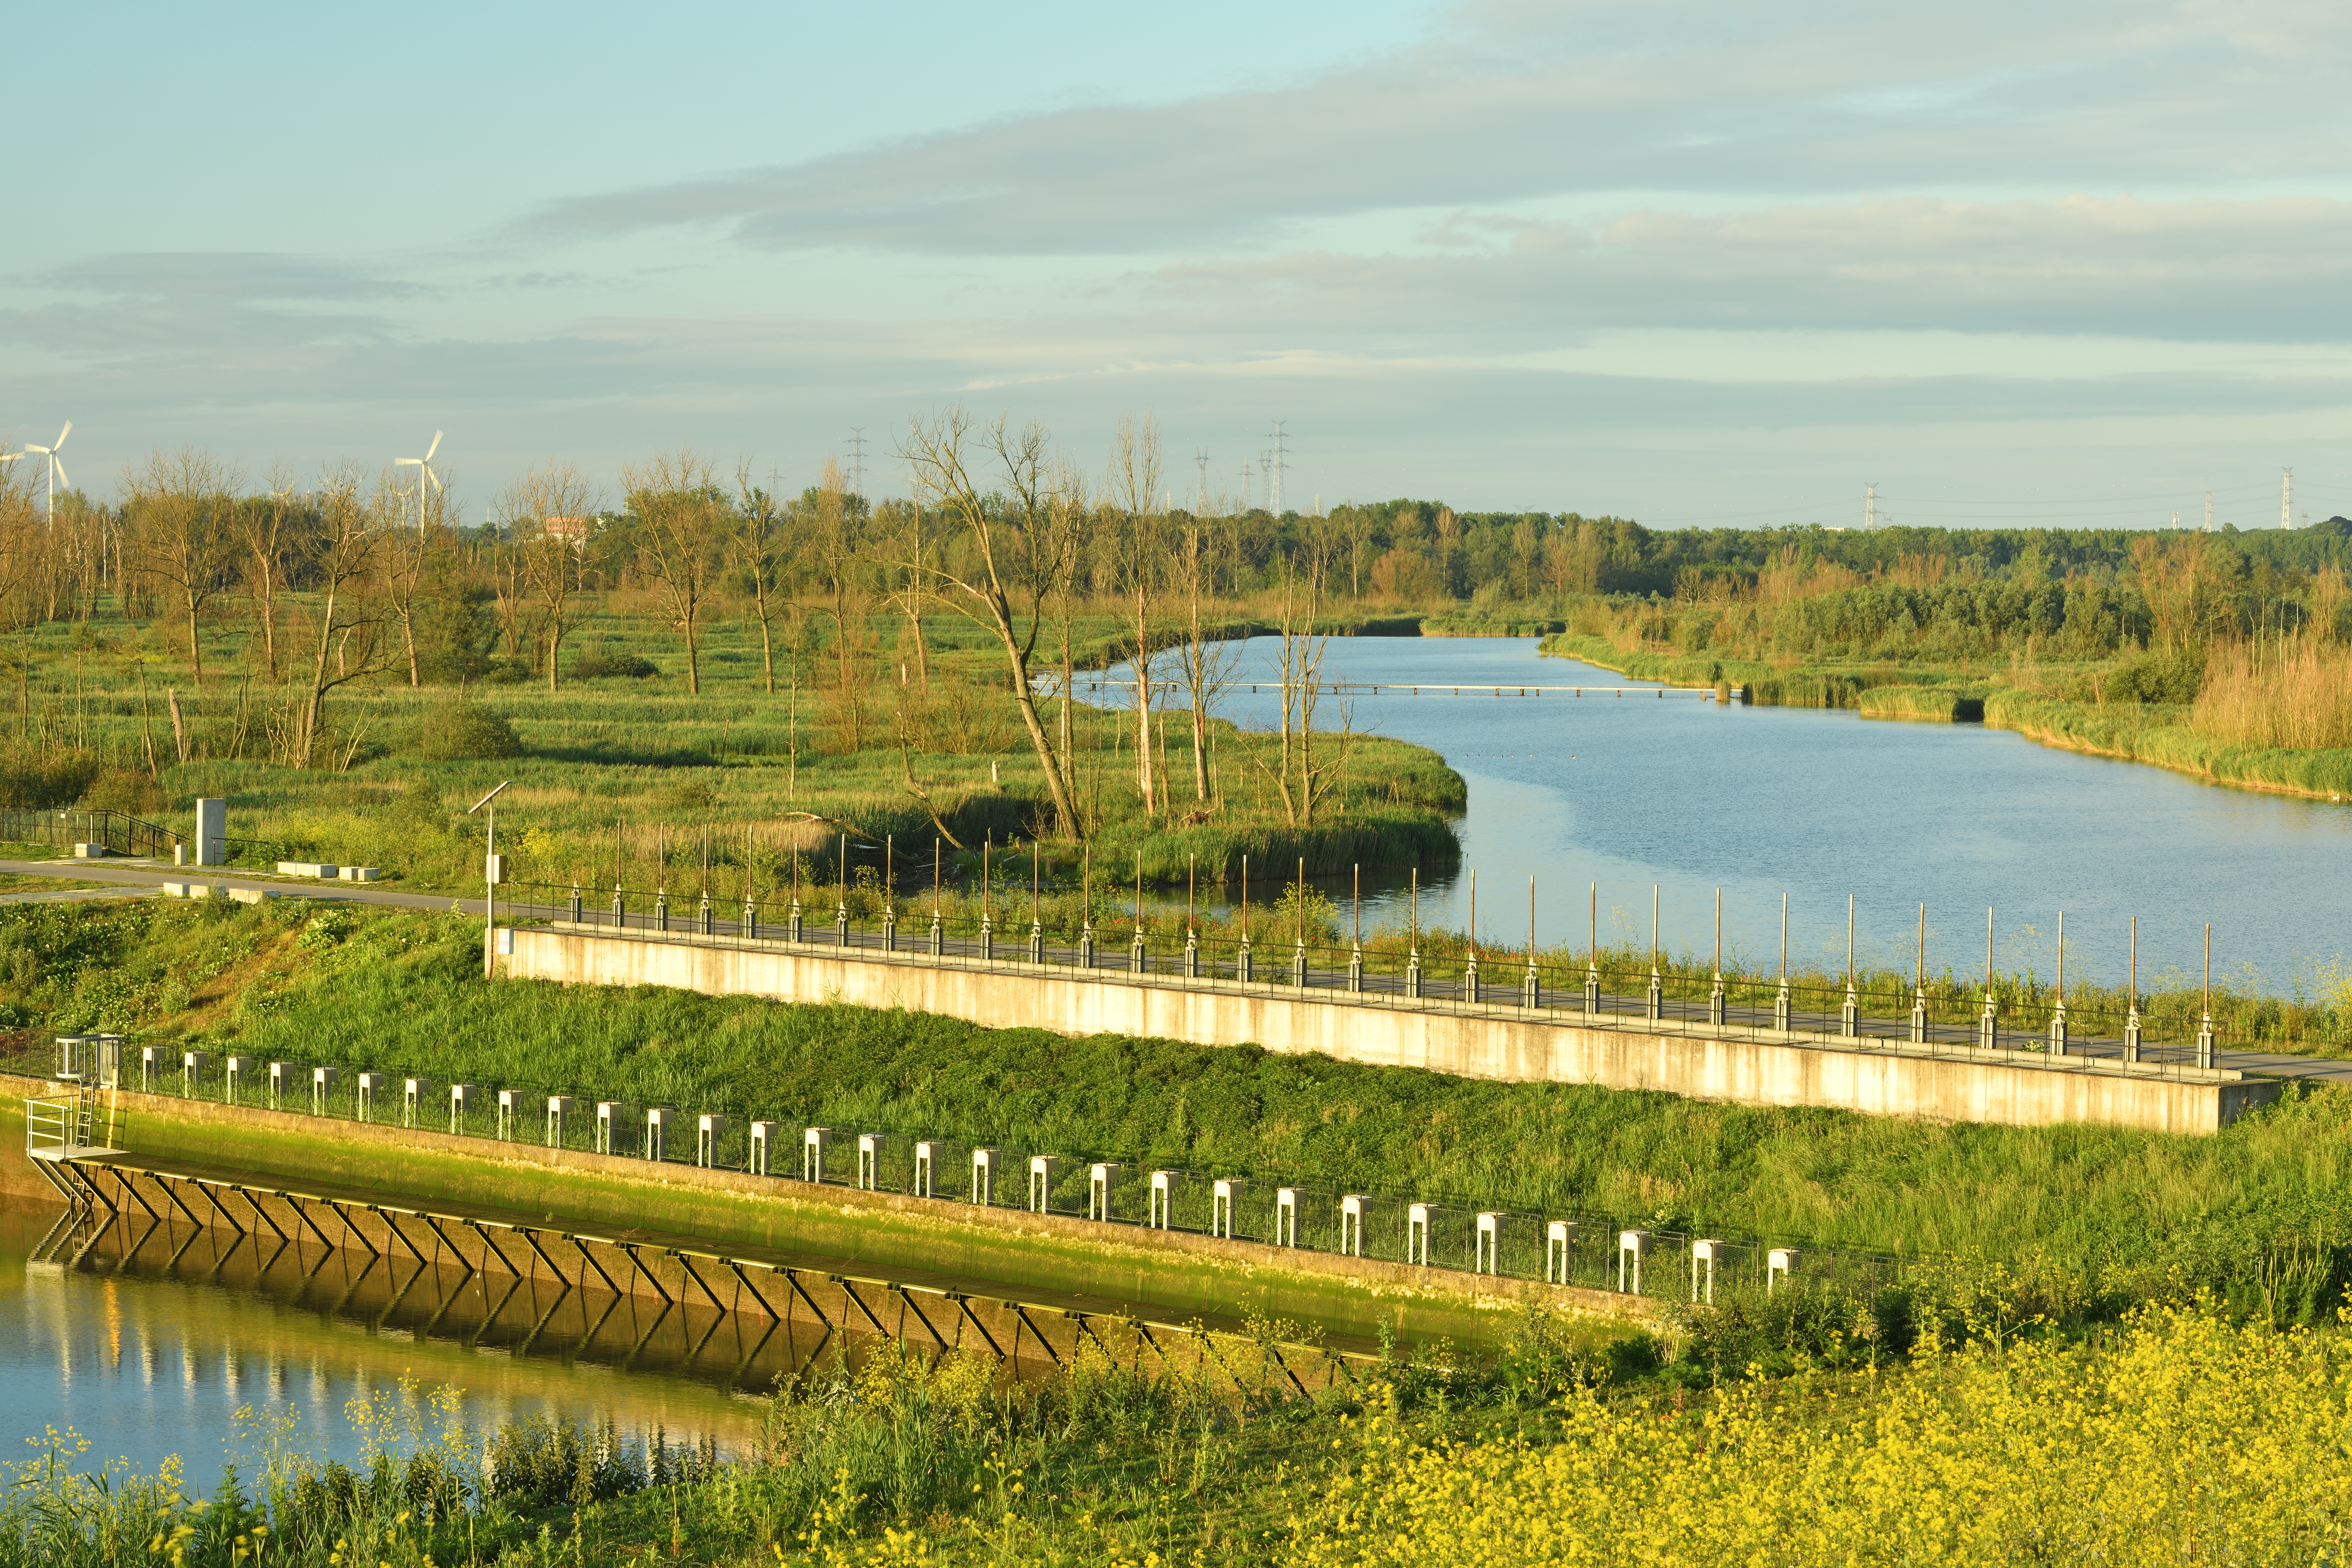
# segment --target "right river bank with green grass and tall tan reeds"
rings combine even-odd
[[[2338,712],[2352,703],[2352,658],[2317,649],[2291,654],[2303,668],[2288,670],[2284,693],[2277,672],[2260,672],[2256,656],[2234,649],[2211,670],[2201,656],[2190,661],[2192,670],[2171,670],[2166,665],[2180,661],[2145,654],[2074,663],[1757,661],[1628,649],[1592,632],[1545,637],[1543,651],[1635,679],[1743,686],[1748,701],[1762,705],[1853,708],[1865,719],[1983,719],[2042,745],[2145,762],[2209,783],[2307,799],[2352,797],[2352,733]],[[2157,679],[2147,677],[2152,668]],[[2143,686],[2154,701],[2133,696]]]

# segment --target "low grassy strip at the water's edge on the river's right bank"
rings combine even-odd
[[[1729,682],[1764,708],[1851,708],[1865,719],[1983,722],[2039,745],[2140,762],[2201,783],[2300,799],[2352,799],[2352,750],[2232,745],[2187,724],[2178,703],[2079,703],[2009,686],[1992,670],[1936,672],[1896,663],[1776,670],[1757,661],[1628,654],[1604,637],[1552,635],[1555,658],[1670,686]]]

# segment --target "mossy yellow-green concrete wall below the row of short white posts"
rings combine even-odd
[[[54,1206],[54,1190],[24,1161],[21,1131],[24,1100],[52,1093],[54,1084],[0,1074],[0,1117],[16,1114],[24,1199]],[[132,1164],[183,1175],[463,1211],[647,1246],[689,1244],[739,1255],[764,1248],[811,1267],[856,1265],[1033,1302],[1068,1298],[1089,1309],[1134,1309],[1164,1321],[1197,1316],[1218,1328],[1258,1314],[1324,1328],[1355,1347],[1371,1345],[1383,1324],[1399,1340],[1494,1345],[1517,1328],[1526,1302],[1588,1319],[1651,1312],[1642,1298],[1602,1291],[252,1105],[122,1091],[106,1095],[106,1107],[101,1126],[113,1126],[115,1147],[127,1150]],[[202,1204],[195,1208],[202,1213]]]

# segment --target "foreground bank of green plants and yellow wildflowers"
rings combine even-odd
[[[78,1476],[49,1439],[0,1502],[0,1566],[661,1563],[2333,1563],[2352,1547],[2345,1333],[2194,1305],[2089,1342],[1999,1295],[1792,1378],[1628,1382],[1529,1333],[1284,1399],[1082,1356],[1035,1385],[875,1356],[818,1366],[731,1465],[524,1422],[466,1432],[402,1387],[353,1401],[358,1469],[252,1439],[209,1497]],[[437,1429],[435,1429],[437,1427]],[[54,1455],[54,1458],[52,1458]]]

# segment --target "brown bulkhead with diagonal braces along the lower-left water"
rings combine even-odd
[[[887,1342],[985,1354],[1011,1378],[1049,1375],[1091,1349],[1112,1366],[1270,1382],[1301,1396],[1350,1382],[1348,1363],[1369,1361],[1202,1324],[802,1267],[774,1253],[590,1237],[127,1159],[78,1166],[73,1178],[87,1204],[59,1220],[45,1262],[200,1276],[372,1331],[668,1371],[729,1389],[767,1392],[835,1352],[856,1366]]]

